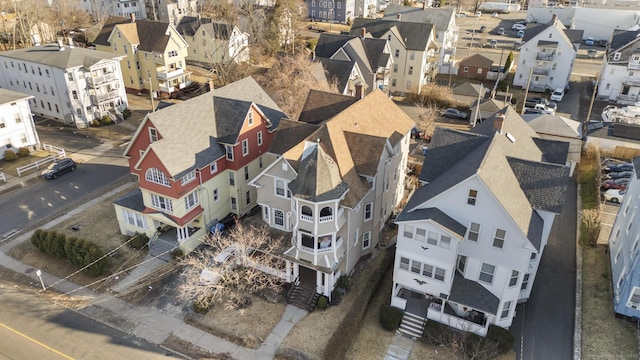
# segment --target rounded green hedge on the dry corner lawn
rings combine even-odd
[[[31,244],[47,255],[67,259],[78,267],[85,267],[95,261],[95,264],[83,270],[91,276],[100,276],[109,268],[109,258],[104,257],[102,249],[84,239],[67,237],[56,231],[37,229],[31,235]]]

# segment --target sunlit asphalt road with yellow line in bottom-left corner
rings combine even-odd
[[[0,359],[166,359],[167,351],[31,293],[0,291]]]

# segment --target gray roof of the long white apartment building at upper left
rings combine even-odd
[[[120,60],[122,56],[104,51],[96,51],[85,48],[68,46],[64,50],[56,44],[33,46],[30,48],[3,51],[2,56],[30,61],[38,64],[49,65],[58,69],[70,69],[95,65],[102,60]]]

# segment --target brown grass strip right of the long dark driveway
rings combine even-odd
[[[597,199],[598,162],[583,154],[578,166],[582,209],[593,209]],[[581,227],[582,246],[582,358],[637,359],[637,332],[632,323],[617,319],[612,308],[611,267],[603,246],[591,246]]]

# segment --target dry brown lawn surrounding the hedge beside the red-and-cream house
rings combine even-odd
[[[111,204],[120,196],[122,196],[122,194],[117,194],[105,199],[95,206],[79,212],[71,219],[56,224],[49,230],[55,230],[67,236],[75,236],[89,240],[100,246],[102,250],[107,253],[122,245],[128,239],[127,236],[120,234],[116,214]],[[74,225],[78,225],[78,230],[71,229]],[[140,263],[146,256],[146,253],[146,249],[136,251],[128,246],[119,248],[111,255],[111,265],[108,273],[115,273]],[[9,255],[25,264],[33,266],[35,269],[40,269],[60,278],[66,277],[78,270],[76,266],[67,260],[55,259],[39,252],[29,241],[25,241],[11,249]],[[91,287],[97,291],[106,291],[109,285],[104,281],[98,281],[98,278],[90,277],[82,272],[70,277],[68,280],[83,285],[93,284]]]

